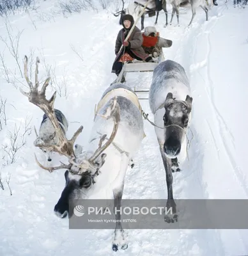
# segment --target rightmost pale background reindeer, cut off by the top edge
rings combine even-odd
[[[203,8],[204,12],[206,13],[206,20],[208,20],[208,8],[206,8],[206,6],[209,5],[208,0],[167,0],[167,3],[173,6],[170,24],[172,23],[174,13],[176,12],[176,17],[177,17],[178,26],[179,26],[179,7],[186,7],[186,6],[189,6],[189,4],[192,10],[192,18],[189,22],[188,27],[190,26],[190,24],[192,23],[196,15],[196,8],[198,8],[199,6]]]

